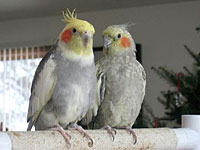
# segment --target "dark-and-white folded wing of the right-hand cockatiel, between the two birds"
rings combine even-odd
[[[89,125],[92,123],[93,117],[97,115],[98,109],[104,100],[105,94],[105,83],[106,83],[106,75],[100,69],[100,63],[96,63],[96,76],[97,76],[97,91],[96,91],[96,100],[94,105],[91,109],[88,110],[87,114],[85,115],[84,119],[82,119],[82,125]]]

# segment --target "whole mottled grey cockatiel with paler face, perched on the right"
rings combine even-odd
[[[136,60],[136,47],[127,25],[112,25],[103,32],[104,57],[96,63],[97,100],[83,119],[90,128],[106,127],[114,140],[113,128],[132,130],[144,99],[146,74]]]

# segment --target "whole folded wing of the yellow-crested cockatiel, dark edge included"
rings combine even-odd
[[[27,130],[31,130],[40,112],[52,97],[56,84],[55,66],[54,50],[50,50],[40,62],[32,82],[27,115],[29,126]]]

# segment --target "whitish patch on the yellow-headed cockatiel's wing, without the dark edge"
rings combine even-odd
[[[32,121],[38,118],[43,107],[51,99],[56,84],[56,77],[54,75],[55,66],[54,60],[50,57],[38,75],[38,79],[32,90],[27,117],[32,117]]]

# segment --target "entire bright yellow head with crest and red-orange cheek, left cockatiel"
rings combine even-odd
[[[59,36],[59,46],[66,56],[91,56],[93,54],[94,27],[85,20],[77,19],[75,9],[63,12],[64,21],[67,23]]]

